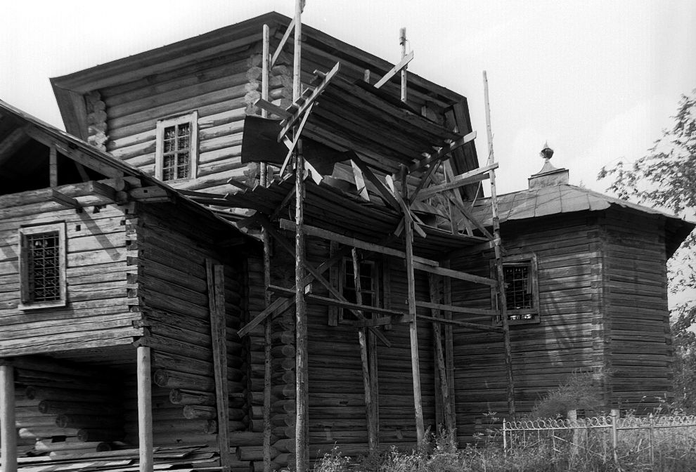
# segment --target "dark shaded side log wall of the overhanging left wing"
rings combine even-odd
[[[138,341],[152,348],[155,444],[210,442],[217,439],[217,409],[212,357],[206,261],[224,265],[227,327],[228,431],[250,424],[248,343],[236,332],[245,320],[243,271],[214,249],[214,235],[192,214],[162,204],[147,204],[129,219],[138,235],[138,272],[129,295],[143,313],[137,324],[147,329]],[[136,431],[130,428],[131,433]]]

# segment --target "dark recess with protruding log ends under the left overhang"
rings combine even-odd
[[[113,377],[43,358],[15,360],[15,416],[21,439],[51,456],[106,451],[123,439]],[[28,451],[27,451],[28,452]]]

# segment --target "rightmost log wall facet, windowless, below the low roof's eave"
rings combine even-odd
[[[612,209],[603,221],[612,407],[639,414],[673,395],[664,221],[656,220]]]

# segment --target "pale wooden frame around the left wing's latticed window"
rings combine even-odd
[[[60,299],[53,301],[31,301],[30,274],[29,274],[29,248],[27,247],[27,235],[38,235],[47,232],[58,233],[58,273],[60,276]],[[65,237],[65,222],[49,223],[36,226],[22,226],[19,228],[19,275],[20,275],[20,310],[39,310],[41,308],[54,308],[67,304],[67,247]]]

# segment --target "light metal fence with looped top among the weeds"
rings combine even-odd
[[[696,470],[696,417],[610,416],[503,421],[506,454],[534,450],[572,468],[612,464],[616,470]],[[643,470],[643,469],[640,469]]]

